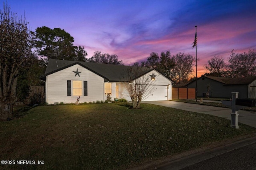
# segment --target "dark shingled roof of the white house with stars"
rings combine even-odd
[[[64,68],[68,68],[75,64],[79,64],[84,68],[94,72],[95,74],[98,74],[99,76],[105,78],[107,81],[112,81],[112,82],[124,81],[122,74],[126,70],[131,68],[131,66],[115,65],[115,64],[101,64],[101,63],[88,63],[88,62],[81,62],[81,61],[49,59],[46,71],[44,75],[41,76],[41,78],[45,79],[46,76],[54,72],[60,71]],[[142,67],[141,69],[142,69],[141,70],[142,72],[140,76],[150,72],[151,70],[154,70],[147,67]]]

